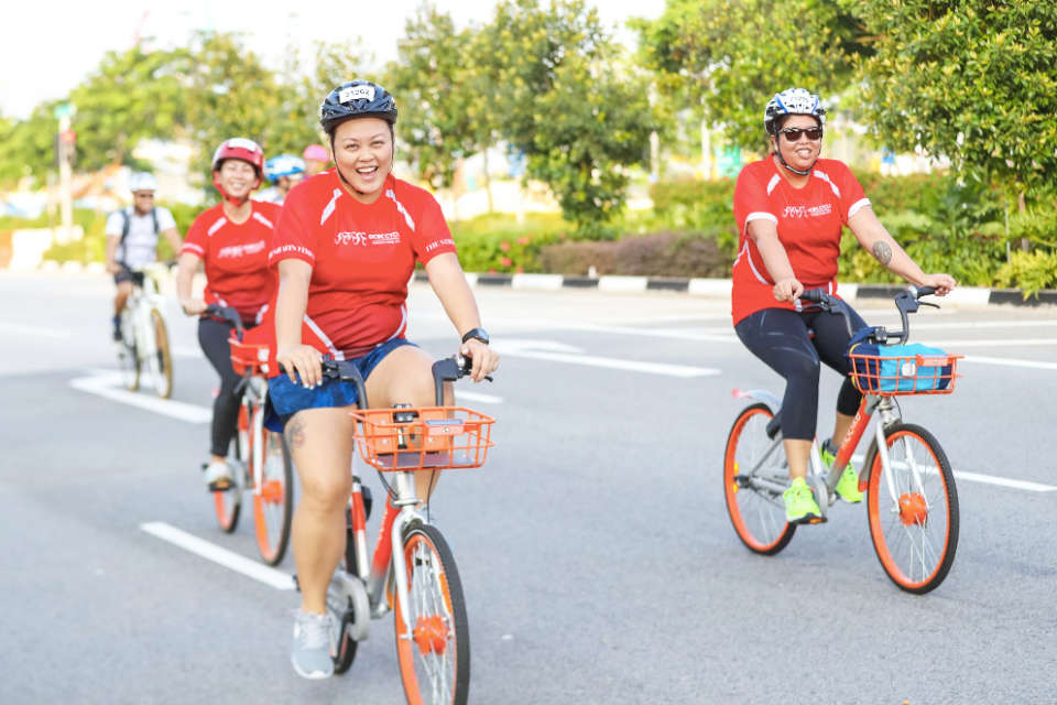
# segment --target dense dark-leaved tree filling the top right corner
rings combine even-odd
[[[1057,4],[857,0],[876,54],[863,105],[875,139],[946,155],[1020,198],[1057,182]]]

